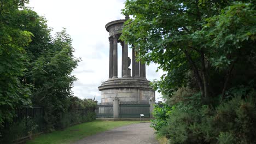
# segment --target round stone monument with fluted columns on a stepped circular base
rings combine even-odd
[[[130,69],[128,44],[119,40],[127,19],[129,16],[126,16],[124,20],[109,22],[105,26],[109,32],[109,79],[98,87],[101,91],[101,103],[111,102],[114,99],[137,102],[155,101],[155,91],[149,87],[150,81],[146,79],[146,64],[135,61],[136,53],[132,49],[132,68]],[[122,46],[121,77],[118,77],[118,43]]]

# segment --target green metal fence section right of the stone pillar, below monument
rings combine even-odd
[[[140,114],[149,118],[149,102],[147,101],[120,101],[119,117],[120,118],[139,118]]]

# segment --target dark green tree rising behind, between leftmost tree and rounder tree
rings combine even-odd
[[[21,78],[23,83],[34,85],[32,78],[32,69],[34,67],[34,61],[45,55],[45,53],[51,49],[53,40],[50,32],[51,28],[48,28],[46,19],[43,16],[39,16],[35,11],[24,8],[20,10],[19,17],[25,17],[21,19],[19,26],[24,31],[29,31],[33,34],[31,43],[24,47],[26,51],[27,62],[25,75]],[[32,21],[32,23],[30,22]]]

